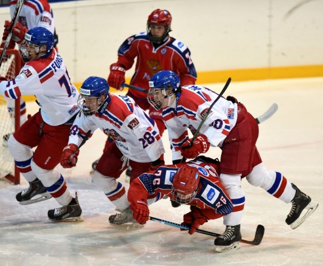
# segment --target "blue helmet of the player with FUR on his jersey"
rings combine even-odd
[[[45,45],[45,49],[42,48],[43,45]],[[53,34],[46,28],[35,27],[25,33],[24,40],[19,44],[19,52],[22,59],[25,62],[28,62],[30,60],[36,60],[44,55],[48,55],[53,46]],[[40,50],[41,48],[42,50]]]

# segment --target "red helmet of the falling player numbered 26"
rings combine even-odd
[[[177,203],[190,203],[196,195],[200,177],[197,168],[182,165],[174,175],[172,195]]]

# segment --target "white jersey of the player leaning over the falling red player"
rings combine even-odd
[[[182,159],[179,147],[188,138],[187,128],[195,133],[208,107],[218,97],[214,91],[196,85],[182,87],[181,96],[163,109],[163,119],[168,129],[173,160]],[[210,145],[221,147],[224,139],[237,122],[237,104],[221,97],[212,107],[199,133],[207,137]]]

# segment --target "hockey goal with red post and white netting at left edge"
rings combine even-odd
[[[0,53],[2,49],[0,49]],[[21,69],[19,52],[7,49],[0,67],[0,75],[8,80],[15,78]],[[7,178],[15,184],[20,182],[20,174],[8,149],[8,138],[20,125],[20,99],[15,100],[15,111],[10,115],[7,101],[0,95],[0,178]]]

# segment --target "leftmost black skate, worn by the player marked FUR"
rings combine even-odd
[[[35,197],[36,195],[38,196]],[[48,198],[51,198],[51,194],[49,194],[38,178],[29,182],[29,186],[16,195],[16,199],[21,205],[45,201]]]

